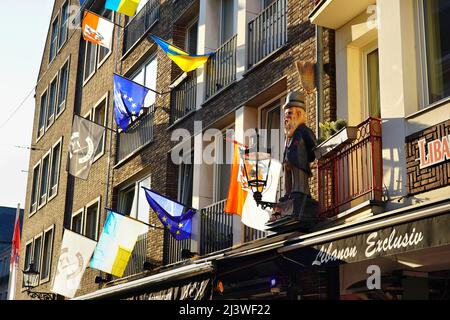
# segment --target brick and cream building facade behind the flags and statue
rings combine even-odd
[[[445,296],[449,1],[148,0],[125,19],[85,1],[118,25],[111,52],[79,30],[65,34],[72,2],[55,1],[36,87],[21,266],[39,262],[39,290],[50,290],[63,228],[97,240],[105,208],[161,227],[141,188],[149,187],[198,209],[191,238],[149,228],[125,277],[88,269],[79,299],[183,299],[192,287],[213,299]],[[213,54],[183,73],[149,34]],[[297,62],[312,63],[314,90]],[[74,179],[62,165],[72,117],[115,128],[114,73],[160,94],[147,97],[129,130],[108,130],[88,180]],[[267,130],[271,155],[282,160],[281,106],[293,90],[318,137],[319,123],[347,127],[316,150],[317,225],[257,231],[224,213],[228,134],[248,144],[248,130]],[[184,161],[174,161],[180,154]],[[381,287],[367,287],[369,267]]]

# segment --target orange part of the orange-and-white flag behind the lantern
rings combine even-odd
[[[233,165],[231,167],[230,188],[228,189],[228,198],[225,205],[225,213],[242,215],[247,191],[242,188],[241,182],[241,156],[238,144],[234,144]]]

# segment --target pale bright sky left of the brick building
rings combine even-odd
[[[34,91],[53,0],[1,0],[0,206],[24,208],[34,117]],[[7,8],[7,9],[6,9]]]

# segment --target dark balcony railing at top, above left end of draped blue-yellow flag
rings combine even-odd
[[[138,42],[159,19],[160,0],[149,0],[125,26],[123,33],[123,54]]]

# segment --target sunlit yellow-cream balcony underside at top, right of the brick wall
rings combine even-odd
[[[376,0],[323,0],[309,18],[313,24],[336,30],[362,12],[367,12],[369,6],[374,4]]]

